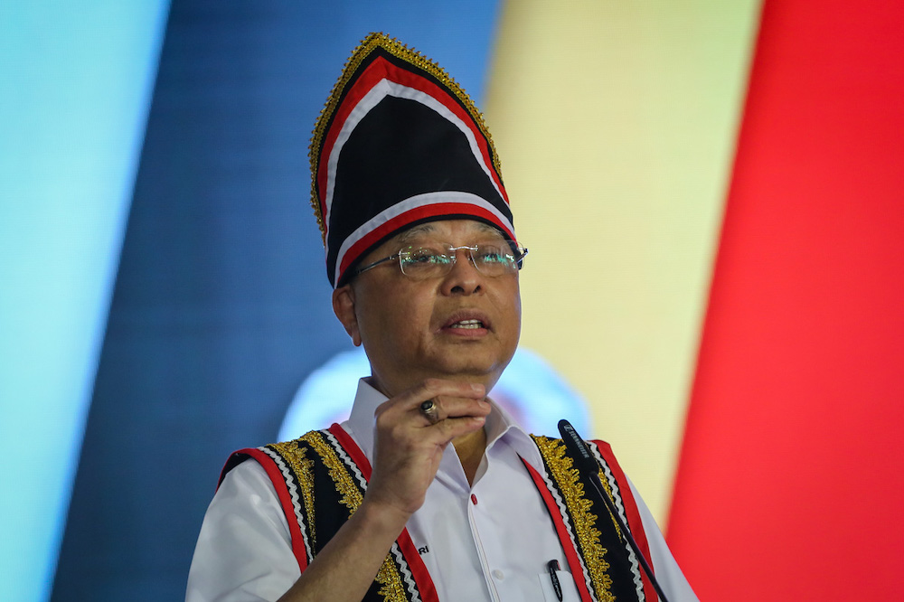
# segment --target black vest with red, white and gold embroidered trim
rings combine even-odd
[[[585,602],[655,601],[636,555],[589,480],[579,475],[560,441],[532,436],[543,466],[525,471],[541,495],[565,551],[571,575]],[[623,522],[652,565],[640,513],[627,479],[607,443],[590,441],[599,477]],[[371,465],[342,427],[334,424],[294,441],[242,449],[230,456],[222,478],[252,457],[276,487],[302,572],[362,503]],[[542,526],[538,527],[542,528]],[[403,530],[363,598],[381,602],[439,602],[427,568]]]

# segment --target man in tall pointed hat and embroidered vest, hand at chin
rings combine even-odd
[[[656,599],[561,443],[487,397],[518,343],[527,251],[464,91],[372,34],[311,164],[334,312],[371,375],[343,425],[230,458],[187,599]],[[669,599],[696,599],[608,447],[591,448]]]

